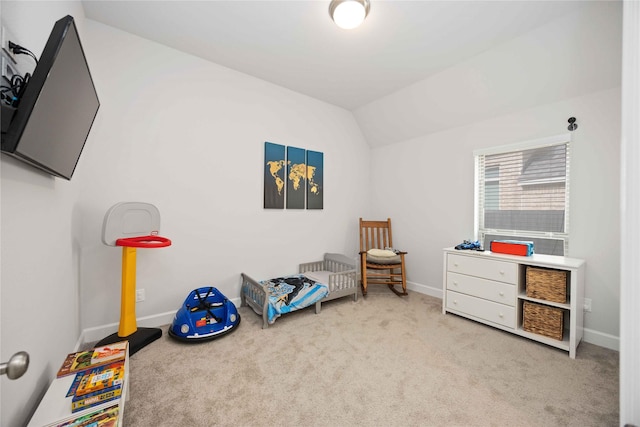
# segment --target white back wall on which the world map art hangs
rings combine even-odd
[[[76,172],[83,328],[119,319],[121,249],[101,241],[104,215],[117,202],[156,205],[160,234],[173,242],[137,251],[137,288],[146,292],[138,317],[175,313],[199,286],[238,298],[241,272],[264,279],[295,273],[324,252],[356,255],[369,148],[351,113],[86,25],[101,107]],[[324,153],[323,210],[263,209],[265,141]]]

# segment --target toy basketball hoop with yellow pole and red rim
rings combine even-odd
[[[98,342],[97,346],[126,339],[129,354],[162,336],[159,328],[138,328],[136,325],[136,248],[164,248],[171,240],[158,235],[160,212],[149,203],[126,202],[113,205],[104,217],[102,242],[122,247],[122,291],[118,332]]]

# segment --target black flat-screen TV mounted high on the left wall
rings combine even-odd
[[[25,86],[2,151],[70,180],[99,107],[73,17],[65,16]]]

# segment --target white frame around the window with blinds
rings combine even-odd
[[[509,230],[509,229],[494,229],[485,228],[483,215],[485,211],[485,200],[483,194],[485,191],[481,191],[481,186],[484,186],[487,181],[495,181],[495,178],[491,177],[489,180],[484,180],[485,173],[480,170],[481,165],[484,164],[481,157],[491,156],[495,154],[513,153],[537,148],[550,147],[554,145],[566,145],[566,174],[565,174],[565,206],[564,206],[564,231],[563,232],[546,232],[546,231],[526,231],[526,230]],[[476,240],[484,241],[486,235],[501,235],[509,236],[510,238],[518,238],[526,240],[527,238],[542,238],[551,240],[561,240],[563,247],[563,255],[569,254],[569,208],[570,208],[570,159],[571,159],[571,134],[555,135],[547,138],[534,139],[530,141],[519,142],[515,144],[501,145],[495,147],[488,147],[477,149],[473,151],[474,156],[474,236]],[[482,180],[482,182],[481,182]],[[550,181],[545,181],[550,182]],[[535,183],[531,183],[535,184]],[[524,183],[524,186],[531,185]],[[499,196],[498,196],[499,197]],[[482,199],[482,200],[481,200]],[[487,248],[489,249],[489,248]]]

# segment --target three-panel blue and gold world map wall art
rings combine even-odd
[[[264,143],[265,209],[322,209],[324,155],[318,151]]]

